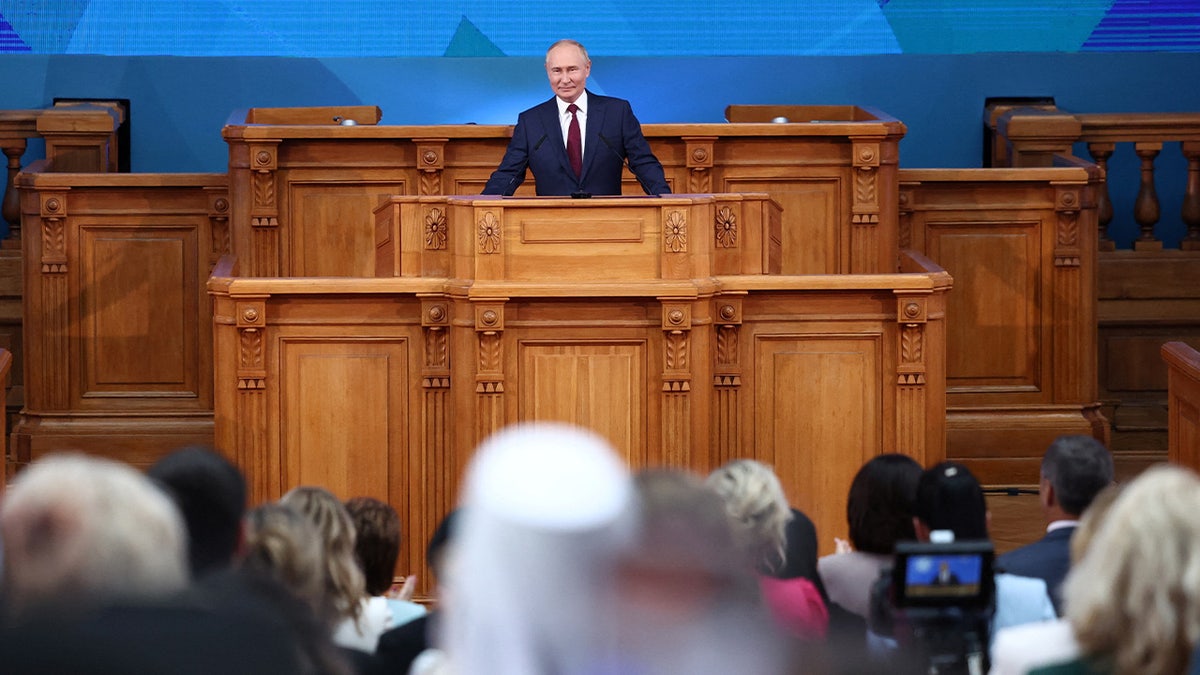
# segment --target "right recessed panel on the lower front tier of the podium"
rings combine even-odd
[[[881,452],[880,348],[870,336],[755,340],[754,456],[774,466],[826,552],[846,536],[854,473]]]

